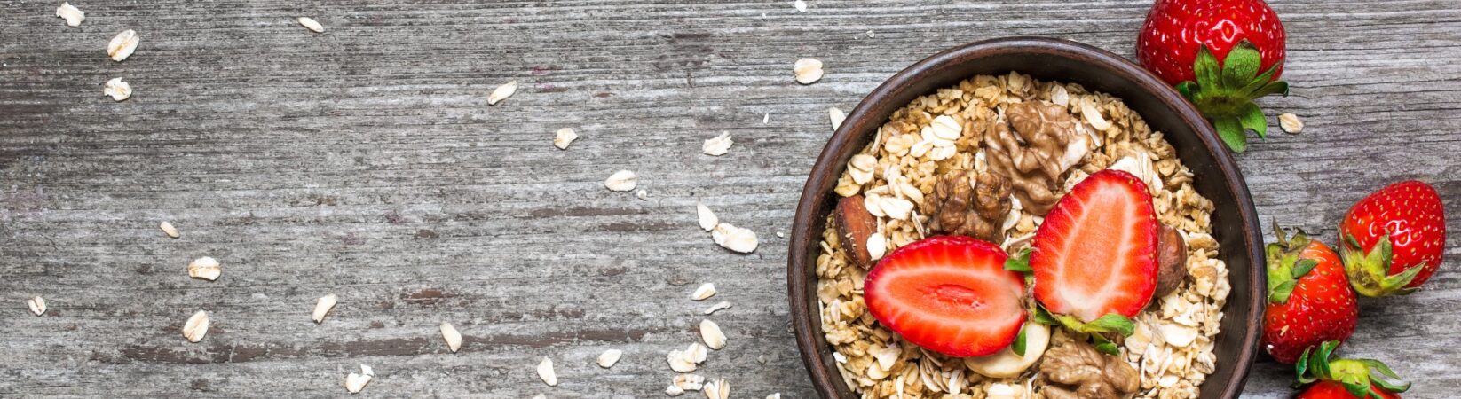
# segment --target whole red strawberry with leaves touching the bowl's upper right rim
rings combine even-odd
[[[1137,61],[1175,85],[1236,152],[1267,134],[1254,99],[1289,95],[1284,29],[1262,0],[1157,0],[1137,37]]]

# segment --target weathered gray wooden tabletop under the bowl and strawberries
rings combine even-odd
[[[736,398],[811,398],[786,240],[827,107],[941,48],[1049,35],[1131,56],[1148,1],[0,0],[0,396],[663,398],[700,310]],[[1461,200],[1461,1],[1275,1],[1303,134],[1239,155],[1267,222],[1334,238],[1388,181]],[[313,16],[313,34],[294,18]],[[123,29],[142,44],[114,63]],[[796,85],[792,61],[827,76]],[[136,91],[114,102],[101,85]],[[516,96],[488,107],[507,80]],[[770,121],[763,117],[770,114]],[[552,148],[552,133],[581,139]],[[700,153],[720,132],[730,153]],[[602,181],[634,170],[647,200]],[[761,237],[695,227],[703,200]],[[156,228],[172,221],[183,237]],[[1461,231],[1461,213],[1448,222]],[[1347,354],[1461,390],[1461,234],[1426,291],[1365,301]],[[212,256],[216,282],[184,266]],[[720,294],[687,300],[701,282]],[[314,298],[340,305],[323,324]],[[42,295],[50,313],[23,301]],[[200,343],[178,329],[212,313]],[[466,335],[459,354],[437,323]],[[593,365],[624,349],[612,370]],[[533,365],[558,364],[560,386]],[[1252,398],[1287,398],[1259,364]],[[697,393],[690,393],[697,395]]]

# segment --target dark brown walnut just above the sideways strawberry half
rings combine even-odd
[[[923,200],[929,229],[998,243],[1010,215],[1010,181],[992,172],[955,170],[938,178]]]

